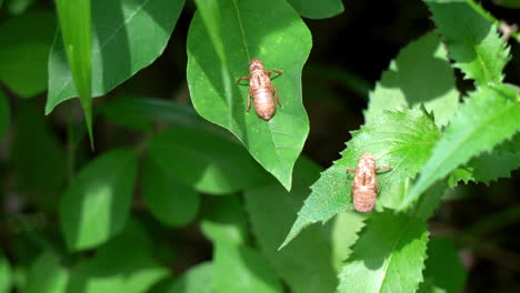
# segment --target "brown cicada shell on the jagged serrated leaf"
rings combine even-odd
[[[347,172],[356,172],[350,198],[358,212],[368,213],[376,205],[376,196],[379,193],[376,172],[382,169],[392,170],[393,166],[376,168],[376,158],[369,152],[363,153],[358,161],[358,169],[347,169]]]

